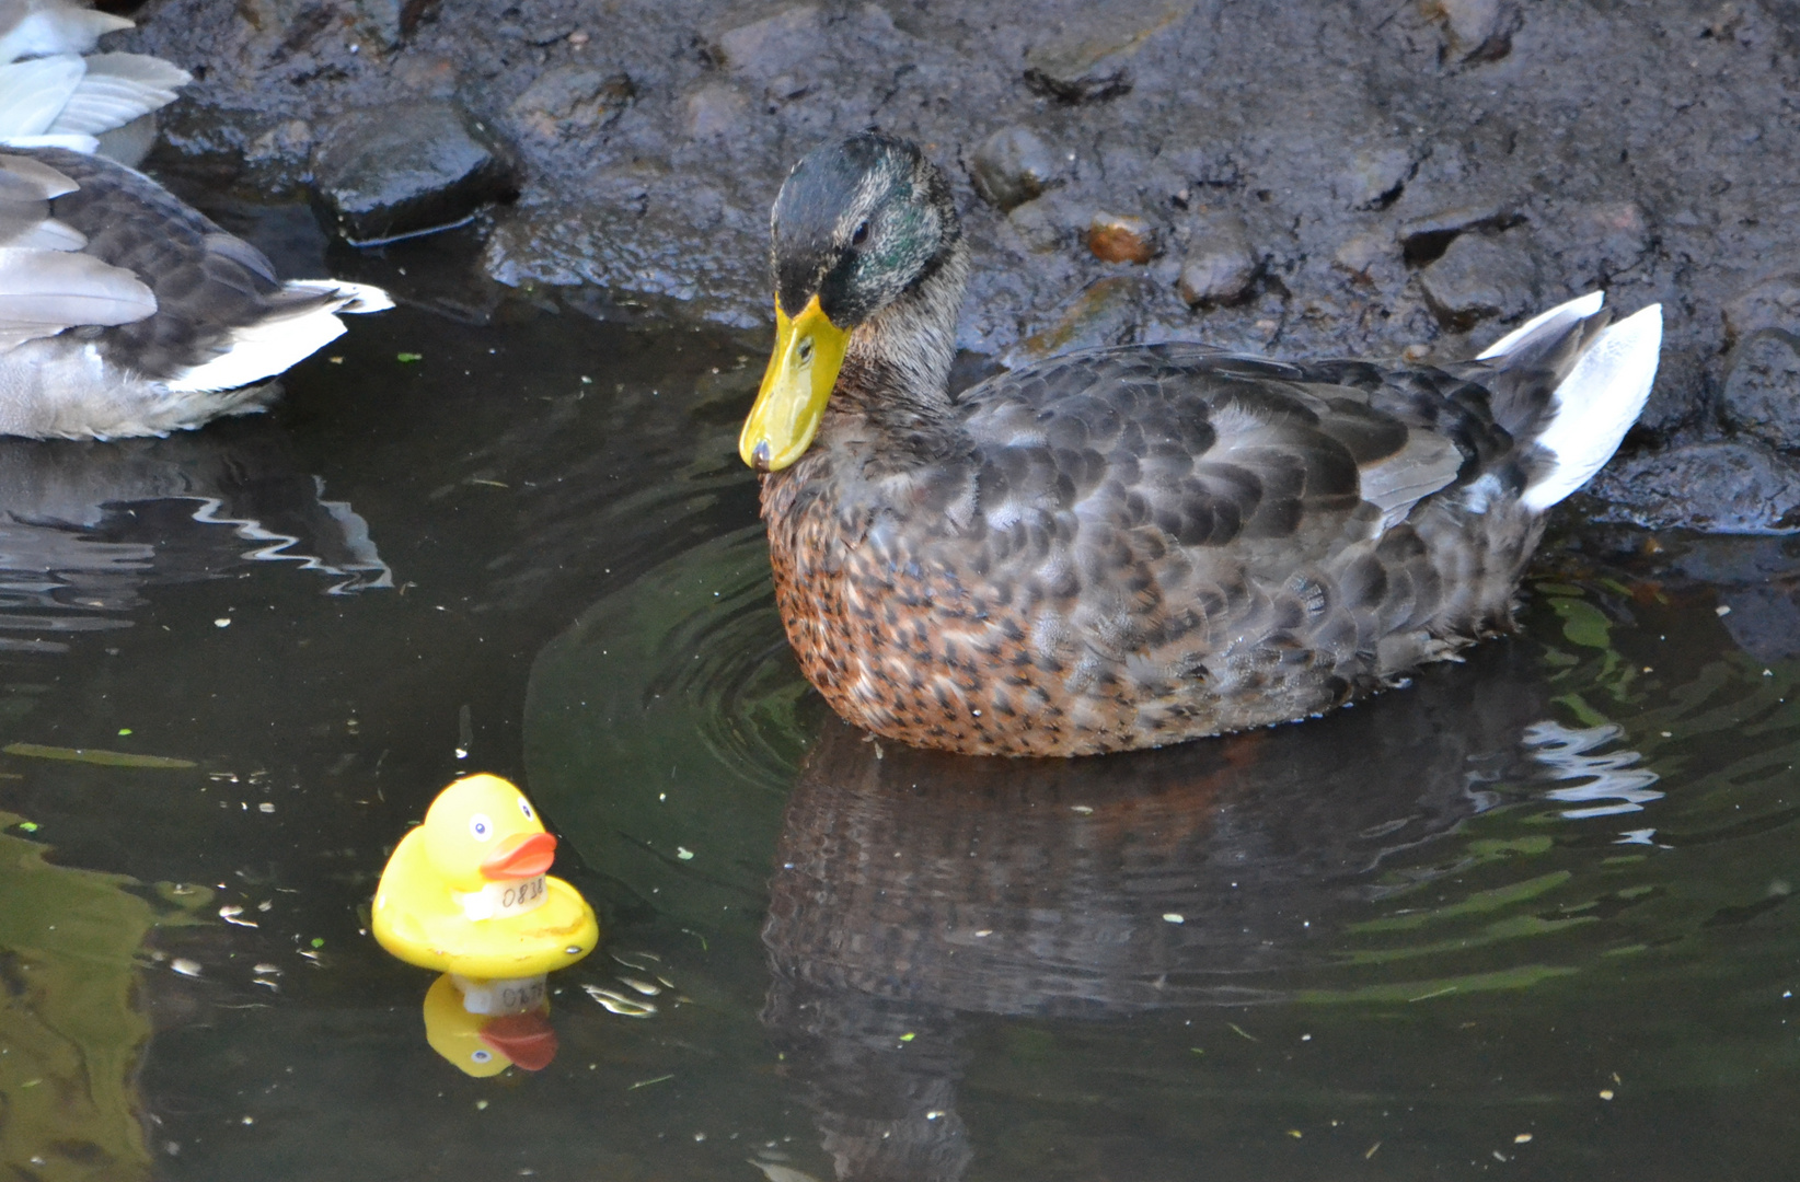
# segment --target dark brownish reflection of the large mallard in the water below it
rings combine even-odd
[[[1490,808],[1546,714],[1523,646],[1303,727],[1004,759],[832,718],[787,806],[763,1009],[837,1177],[961,1178],[979,1015],[1278,1000],[1370,918],[1384,862]]]

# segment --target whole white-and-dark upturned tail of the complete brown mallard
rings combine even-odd
[[[1519,497],[1543,513],[1613,457],[1638,421],[1663,342],[1661,304],[1613,324],[1589,291],[1507,333],[1476,358],[1494,417],[1541,452]]]

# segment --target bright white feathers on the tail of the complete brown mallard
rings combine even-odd
[[[1591,315],[1600,309],[1598,293],[1553,308],[1544,315],[1555,317],[1589,299],[1593,309],[1584,315]],[[1573,322],[1575,317],[1570,318]],[[1525,327],[1535,324],[1534,320]],[[1517,344],[1516,335],[1508,333],[1499,344]],[[1651,396],[1661,344],[1663,308],[1651,304],[1618,324],[1609,324],[1588,345],[1588,351],[1575,362],[1575,369],[1555,389],[1552,419],[1535,439],[1555,462],[1532,480],[1519,504],[1526,509],[1544,511],[1586,484],[1606,461],[1613,459],[1613,452],[1618,450],[1631,425],[1638,421],[1643,401]],[[1494,349],[1481,356],[1490,353]]]

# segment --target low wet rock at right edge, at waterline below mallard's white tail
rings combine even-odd
[[[1589,486],[1597,520],[1724,534],[1800,531],[1800,466],[1751,443],[1692,443],[1615,461]]]

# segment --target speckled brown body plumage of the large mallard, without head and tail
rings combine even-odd
[[[1532,448],[1460,369],[1076,353],[967,390],[904,455],[846,369],[814,450],[763,479],[788,639],[844,718],[968,754],[1373,693],[1508,628],[1541,533]]]

